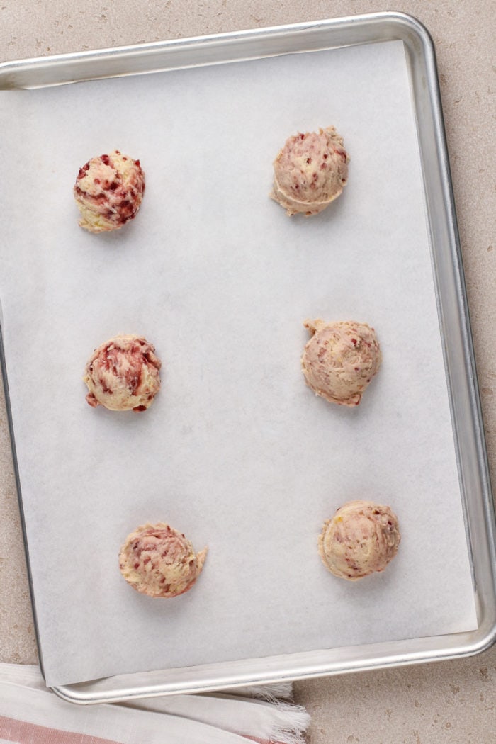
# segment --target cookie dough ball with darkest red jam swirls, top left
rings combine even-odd
[[[138,214],[145,190],[139,160],[114,150],[91,158],[77,174],[74,199],[80,226],[92,233],[119,230]]]

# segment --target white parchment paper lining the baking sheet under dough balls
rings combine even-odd
[[[46,681],[477,626],[401,42],[1,93],[0,294]],[[350,156],[318,217],[268,199],[297,131]],[[77,226],[93,155],[140,158],[115,234]],[[372,324],[356,409],[303,382],[305,318]],[[164,362],[142,414],[90,408],[94,347],[138,333]],[[390,504],[402,544],[358,583],[321,565],[323,520]],[[133,591],[127,533],[165,520],[210,552],[187,594]],[[263,662],[261,662],[263,664]]]

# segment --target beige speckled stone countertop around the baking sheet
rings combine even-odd
[[[496,468],[495,7],[491,0],[2,0],[0,61],[378,10],[422,21],[437,50],[492,477]],[[0,400],[0,661],[36,662]],[[474,658],[295,685],[311,744],[496,741],[496,647]]]

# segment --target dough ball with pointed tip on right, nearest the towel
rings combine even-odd
[[[165,522],[143,525],[127,536],[119,554],[120,573],[136,591],[149,597],[177,597],[191,589],[202,573],[207,548],[193,545]]]

